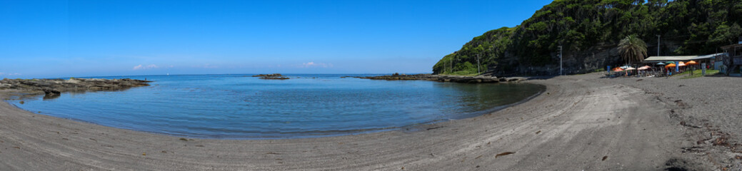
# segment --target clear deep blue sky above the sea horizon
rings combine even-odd
[[[550,2],[0,0],[0,78],[431,73]]]

